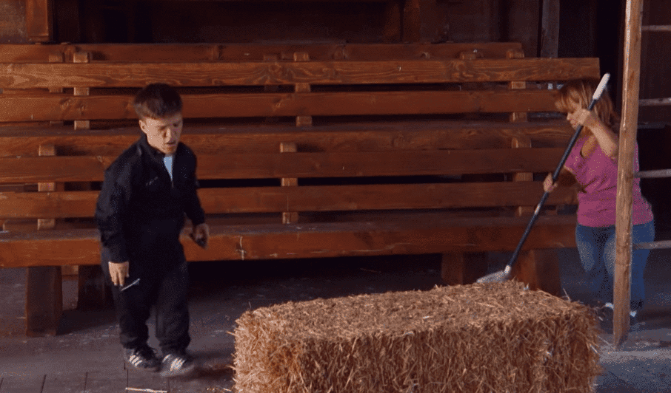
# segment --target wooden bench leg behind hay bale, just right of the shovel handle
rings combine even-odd
[[[531,290],[544,290],[560,296],[562,280],[557,249],[530,249],[521,251],[513,266],[512,276],[529,284]]]

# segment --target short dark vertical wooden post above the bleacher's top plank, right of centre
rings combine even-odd
[[[440,40],[436,0],[405,0],[403,42]]]

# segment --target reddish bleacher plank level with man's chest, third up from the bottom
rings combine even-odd
[[[199,156],[196,176],[199,179],[246,179],[548,172],[562,154],[560,148],[296,153],[291,156],[231,153]],[[115,158],[109,156],[0,158],[0,183],[101,181],[103,171],[113,160]],[[524,180],[531,178],[526,176]]]

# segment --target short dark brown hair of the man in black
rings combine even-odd
[[[182,111],[182,98],[170,85],[152,83],[138,92],[133,107],[140,120],[162,119]]]

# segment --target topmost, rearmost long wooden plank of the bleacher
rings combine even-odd
[[[400,13],[400,10],[399,10]],[[400,25],[399,21],[399,25]],[[312,60],[411,60],[458,58],[465,50],[478,50],[487,58],[505,58],[518,42],[473,42],[443,44],[70,44],[34,46],[0,44],[0,62],[47,62],[60,53],[68,62],[74,52],[91,52],[92,60],[108,62],[205,62],[262,61],[266,54],[308,52]],[[281,60],[281,59],[280,59]]]

